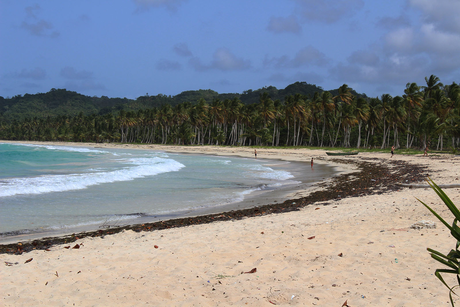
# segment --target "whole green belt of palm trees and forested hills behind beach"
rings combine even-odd
[[[368,98],[296,82],[242,94],[212,90],[137,99],[88,97],[65,89],[0,99],[0,139],[182,145],[396,148],[456,152],[460,86],[435,75],[401,96]],[[224,98],[227,97],[227,98]],[[190,100],[190,101],[189,101]]]

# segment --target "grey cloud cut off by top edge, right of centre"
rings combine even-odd
[[[309,21],[336,23],[350,18],[364,6],[363,0],[294,0],[300,16]]]

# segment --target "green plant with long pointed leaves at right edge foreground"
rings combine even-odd
[[[427,180],[428,181],[428,180]],[[460,259],[460,227],[457,226],[457,222],[460,220],[460,210],[452,203],[450,198],[444,193],[444,191],[433,182],[433,180],[430,179],[428,181],[428,184],[431,186],[431,188],[436,192],[436,194],[443,200],[447,208],[454,214],[454,221],[452,222],[452,225],[449,225],[448,222],[446,222],[439,214],[437,214],[433,209],[431,209],[426,203],[422,202],[420,199],[417,198],[417,200],[422,203],[428,210],[431,211],[432,214],[434,214],[438,220],[440,220],[447,228],[450,230],[450,234],[452,237],[457,239],[457,243],[455,244],[455,249],[451,249],[449,254],[444,255],[434,249],[427,248],[430,252],[431,258],[434,260],[441,262],[443,265],[448,266],[449,269],[437,269],[435,271],[435,275],[441,282],[449,289],[449,298],[450,298],[450,304],[452,307],[454,307],[454,301],[452,300],[452,293],[457,295],[454,292],[454,289],[456,287],[460,287],[460,264],[459,264],[459,259]],[[449,274],[455,274],[457,275],[457,284],[454,285],[453,287],[449,287],[449,285],[444,281],[443,277],[441,276],[441,273],[449,273]],[[459,296],[459,295],[457,295]]]

